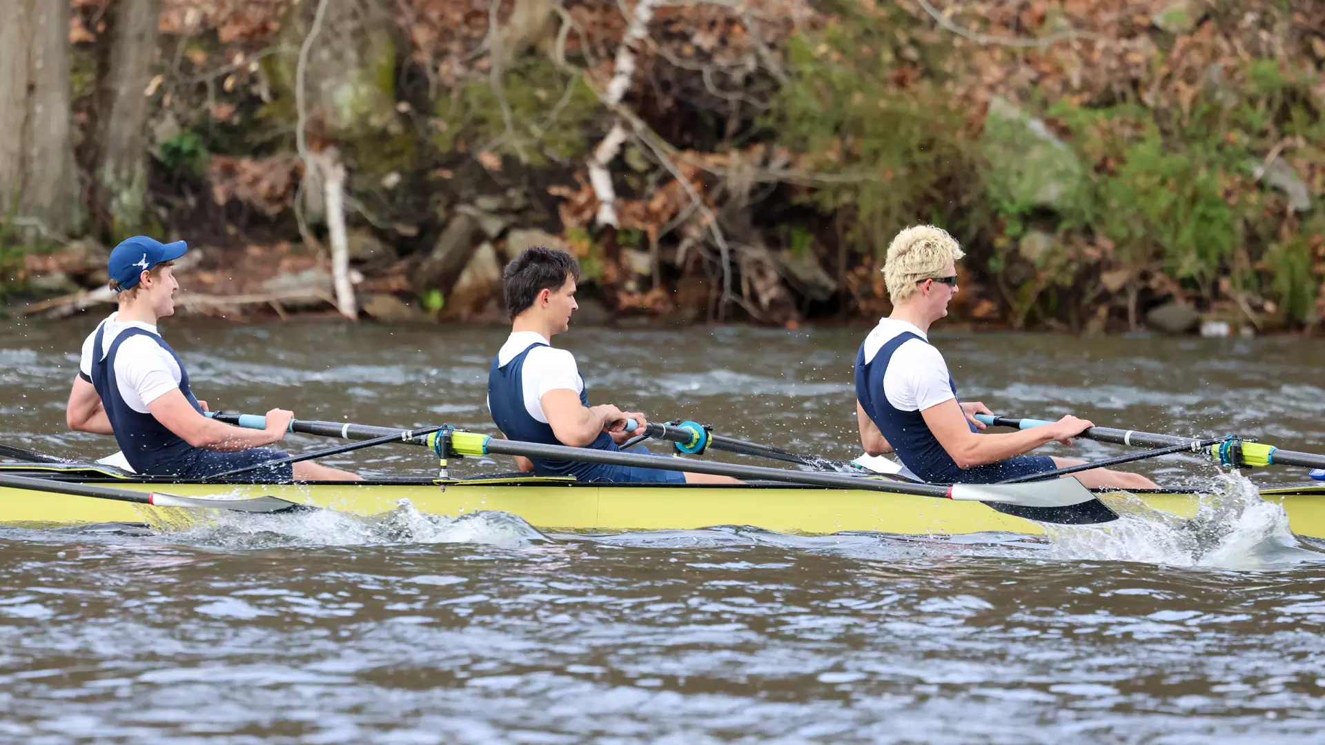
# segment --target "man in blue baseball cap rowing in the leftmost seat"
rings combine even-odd
[[[242,430],[205,416],[188,371],[160,337],[158,321],[175,313],[174,264],[184,241],[163,244],[147,236],[125,240],[110,252],[110,286],[119,309],[87,335],[78,376],[69,392],[70,430],[114,435],[134,472],[207,479],[225,471],[286,457],[264,448],[285,437],[294,414],[266,412],[265,430]],[[358,481],[360,476],[313,461],[269,465],[254,477],[299,481]]]

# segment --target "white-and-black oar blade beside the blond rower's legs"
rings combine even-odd
[[[1026,484],[955,484],[950,496],[1036,522],[1097,525],[1118,518],[1118,513],[1071,477]]]

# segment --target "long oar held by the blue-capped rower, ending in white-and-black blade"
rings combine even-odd
[[[215,418],[245,428],[266,428],[265,416],[246,414],[216,414]],[[382,437],[387,435],[396,435],[399,437],[400,435],[400,430],[391,427],[343,424],[339,422],[306,422],[298,419],[290,422],[290,431],[348,440]],[[449,440],[449,453],[444,452],[441,447],[443,440]],[[660,471],[689,471],[693,473],[731,476],[734,479],[743,480],[786,481],[790,484],[804,484],[808,487],[836,487],[840,489],[867,489],[893,494],[916,494],[958,501],[977,501],[984,502],[1002,513],[1039,522],[1056,522],[1063,525],[1090,525],[1096,522],[1109,522],[1118,518],[1118,516],[1109,509],[1108,505],[1101,502],[1098,497],[1090,493],[1090,490],[1083,487],[1076,479],[1059,479],[1052,483],[1040,481],[1032,484],[954,484],[951,487],[942,487],[937,484],[912,484],[885,481],[881,479],[863,479],[860,476],[847,473],[787,471],[782,468],[739,465],[734,463],[681,460],[652,455],[598,451],[592,448],[545,445],[541,443],[494,439],[477,432],[462,431],[441,431],[421,437],[398,439],[398,441],[428,447],[444,459],[449,455],[519,455],[546,460],[602,463],[604,465],[632,465],[640,468],[657,468]]]

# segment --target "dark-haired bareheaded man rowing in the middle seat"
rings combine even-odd
[[[563,251],[530,248],[506,265],[506,313],[510,337],[488,372],[488,408],[497,428],[511,440],[619,451],[643,435],[643,414],[612,404],[588,404],[575,357],[554,349],[551,338],[570,327],[579,264]],[[627,420],[636,428],[625,431]],[[648,451],[641,448],[633,452]],[[521,471],[539,476],[574,476],[580,481],[625,484],[733,484],[735,479],[656,468],[517,459]]]

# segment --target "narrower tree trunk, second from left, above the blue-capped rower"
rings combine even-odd
[[[42,1],[42,0],[37,0]],[[143,229],[147,109],[162,0],[115,0],[98,50],[94,178],[99,227],[113,239]]]

